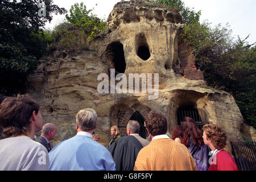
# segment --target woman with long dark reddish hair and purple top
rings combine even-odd
[[[199,171],[207,171],[209,168],[210,148],[204,144],[203,132],[196,126],[192,118],[184,117],[182,121],[183,138],[181,143],[188,147],[189,152],[196,162]]]

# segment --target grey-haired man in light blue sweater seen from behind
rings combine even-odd
[[[110,152],[93,140],[97,125],[95,110],[82,109],[76,115],[75,137],[60,142],[49,152],[49,169],[52,171],[114,171],[115,163]]]

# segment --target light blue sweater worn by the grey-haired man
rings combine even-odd
[[[76,135],[49,152],[51,171],[114,171],[110,152],[92,137]]]

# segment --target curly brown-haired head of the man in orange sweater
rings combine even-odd
[[[166,134],[168,129],[166,117],[163,113],[154,110],[147,114],[145,126],[153,137]]]

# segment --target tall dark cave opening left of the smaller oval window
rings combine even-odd
[[[120,42],[113,42],[108,45],[106,53],[112,55],[112,62],[116,73],[125,73],[125,53],[123,52],[123,44]]]

